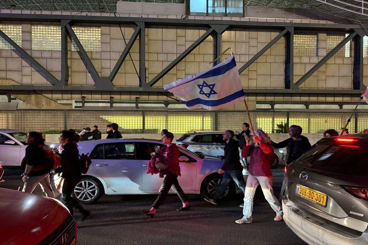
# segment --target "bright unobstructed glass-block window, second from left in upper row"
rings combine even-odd
[[[61,27],[32,25],[32,50],[61,50]]]

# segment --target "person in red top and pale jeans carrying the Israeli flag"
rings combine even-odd
[[[252,223],[253,197],[257,186],[262,187],[263,195],[276,212],[275,221],[281,221],[283,212],[279,201],[273,194],[271,166],[274,154],[268,135],[261,129],[256,129],[255,135],[245,136],[246,145],[242,150],[242,156],[251,157],[247,187],[244,193],[243,218],[236,220],[237,224]]]

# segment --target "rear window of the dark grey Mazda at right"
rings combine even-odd
[[[324,172],[368,174],[367,145],[316,145],[299,159],[307,163],[309,168]]]

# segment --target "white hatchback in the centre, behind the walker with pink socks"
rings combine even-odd
[[[157,194],[163,178],[146,172],[151,156],[162,145],[160,140],[142,138],[79,142],[79,154],[89,154],[92,164],[75,186],[74,197],[88,204],[96,202],[102,194]],[[217,172],[223,161],[213,156],[197,155],[180,146],[179,151],[181,176],[178,181],[184,192],[203,193],[213,198],[221,183],[222,176]],[[238,191],[231,183],[223,196]]]

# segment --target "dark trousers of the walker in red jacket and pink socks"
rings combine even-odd
[[[172,185],[174,185],[173,189],[176,192],[176,194],[178,194],[178,197],[180,198],[181,202],[184,203],[188,201],[187,196],[185,195],[183,189],[181,189],[177,178],[178,176],[173,173],[166,174],[165,179],[163,180],[159,190],[159,196],[152,205],[154,209],[158,209],[159,206],[163,203],[163,201],[167,196],[167,192],[169,192]]]

